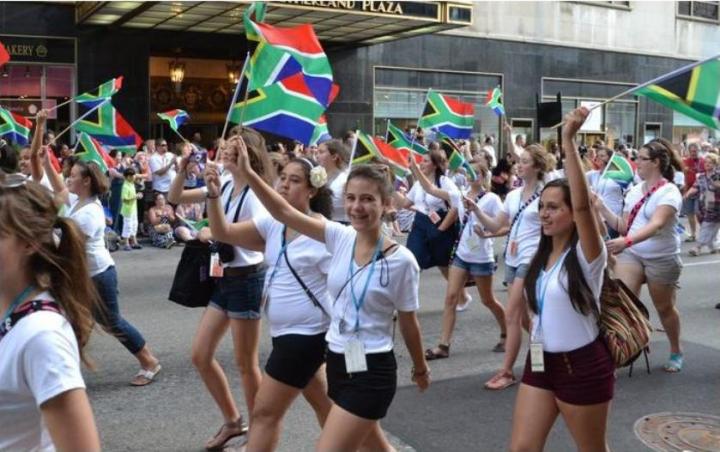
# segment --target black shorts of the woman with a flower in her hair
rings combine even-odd
[[[285,334],[272,338],[265,372],[280,383],[304,389],[325,362],[325,333],[314,336]]]

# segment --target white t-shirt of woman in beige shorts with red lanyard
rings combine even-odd
[[[629,213],[632,208],[635,207],[635,204],[642,199],[644,195],[643,187],[645,187],[645,183],[638,184],[631,188],[627,195],[625,195],[624,211],[626,213]],[[674,221],[670,221],[654,236],[640,243],[633,244],[632,247],[623,252],[633,253],[645,259],[680,254],[680,233],[675,228],[679,221],[678,214],[682,206],[682,195],[675,184],[666,183],[645,201],[637,216],[635,216],[635,220],[630,226],[630,231],[626,235],[632,237],[639,229],[645,227],[660,206],[670,206],[675,209]]]

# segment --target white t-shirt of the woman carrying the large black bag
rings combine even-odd
[[[257,196],[255,196],[255,193],[250,190],[249,187],[242,206],[240,206],[240,199],[243,198],[242,194],[244,190],[240,190],[237,196],[235,196],[232,200],[230,199],[234,187],[231,174],[223,174],[221,176],[220,187],[224,188],[220,194],[220,202],[222,204],[223,211],[225,212],[225,218],[229,223],[235,221],[235,213],[238,208],[240,208],[237,218],[238,223],[252,220],[255,217],[270,215],[267,209],[265,209],[265,206],[263,206],[260,200],[257,199]],[[203,190],[207,194],[207,187],[203,187]],[[233,248],[235,248],[235,259],[231,262],[224,263],[223,267],[247,267],[249,265],[257,265],[263,261],[263,254],[260,252],[246,250],[245,248],[240,248],[239,246],[234,246]]]

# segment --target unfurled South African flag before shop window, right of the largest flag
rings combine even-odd
[[[451,138],[461,139],[470,138],[474,121],[473,104],[428,90],[425,109],[418,126],[437,130]]]

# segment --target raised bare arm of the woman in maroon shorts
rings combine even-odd
[[[562,147],[565,153],[565,175],[570,185],[570,201],[573,220],[580,237],[580,246],[588,262],[593,262],[602,253],[602,236],[590,210],[590,193],[585,171],[580,162],[580,153],[575,145],[575,134],[587,119],[590,111],[581,107],[565,116],[562,130]]]

